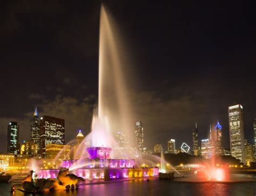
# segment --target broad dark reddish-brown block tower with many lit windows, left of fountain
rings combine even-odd
[[[40,118],[41,156],[45,157],[45,146],[49,144],[65,144],[65,120],[50,116]]]

